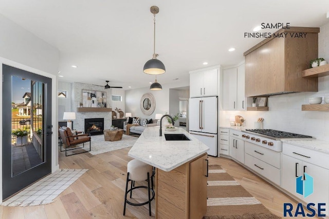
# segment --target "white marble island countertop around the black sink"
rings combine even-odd
[[[167,141],[165,134],[185,134],[191,140]],[[206,144],[180,127],[174,132],[166,131],[163,127],[160,137],[159,126],[153,126],[143,131],[128,155],[168,172],[207,151],[209,148]]]

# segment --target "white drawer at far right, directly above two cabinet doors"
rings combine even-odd
[[[318,152],[311,149],[298,147],[293,144],[282,143],[282,153],[290,157],[295,157],[299,160],[303,160],[309,163],[313,163],[319,167],[329,169],[328,154]]]

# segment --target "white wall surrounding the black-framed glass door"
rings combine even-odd
[[[27,30],[16,25],[12,21],[0,14],[0,64],[10,65],[21,68],[35,74],[46,76],[52,79],[52,124],[56,124],[57,119],[57,72],[59,63],[58,49],[37,38]],[[0,68],[2,74],[2,67]],[[2,83],[0,83],[2,90]],[[2,98],[0,95],[0,113],[2,115]],[[0,132],[2,132],[2,123]],[[57,125],[53,126],[52,142],[52,171],[58,169],[58,146],[57,146]],[[2,142],[2,135],[0,135]],[[3,145],[1,144],[1,147]],[[0,150],[0,159],[2,159],[2,149]],[[2,162],[0,162],[0,188],[2,188]],[[0,189],[0,197],[2,190]],[[0,198],[0,203],[2,198]]]

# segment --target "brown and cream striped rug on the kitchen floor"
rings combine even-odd
[[[280,218],[247,192],[219,165],[209,166],[207,214],[215,218]]]

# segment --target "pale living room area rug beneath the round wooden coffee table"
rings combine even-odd
[[[120,141],[105,141],[104,135],[93,135],[92,136],[92,151],[90,154],[96,155],[109,151],[115,151],[118,149],[132,147],[138,138],[122,135]]]

